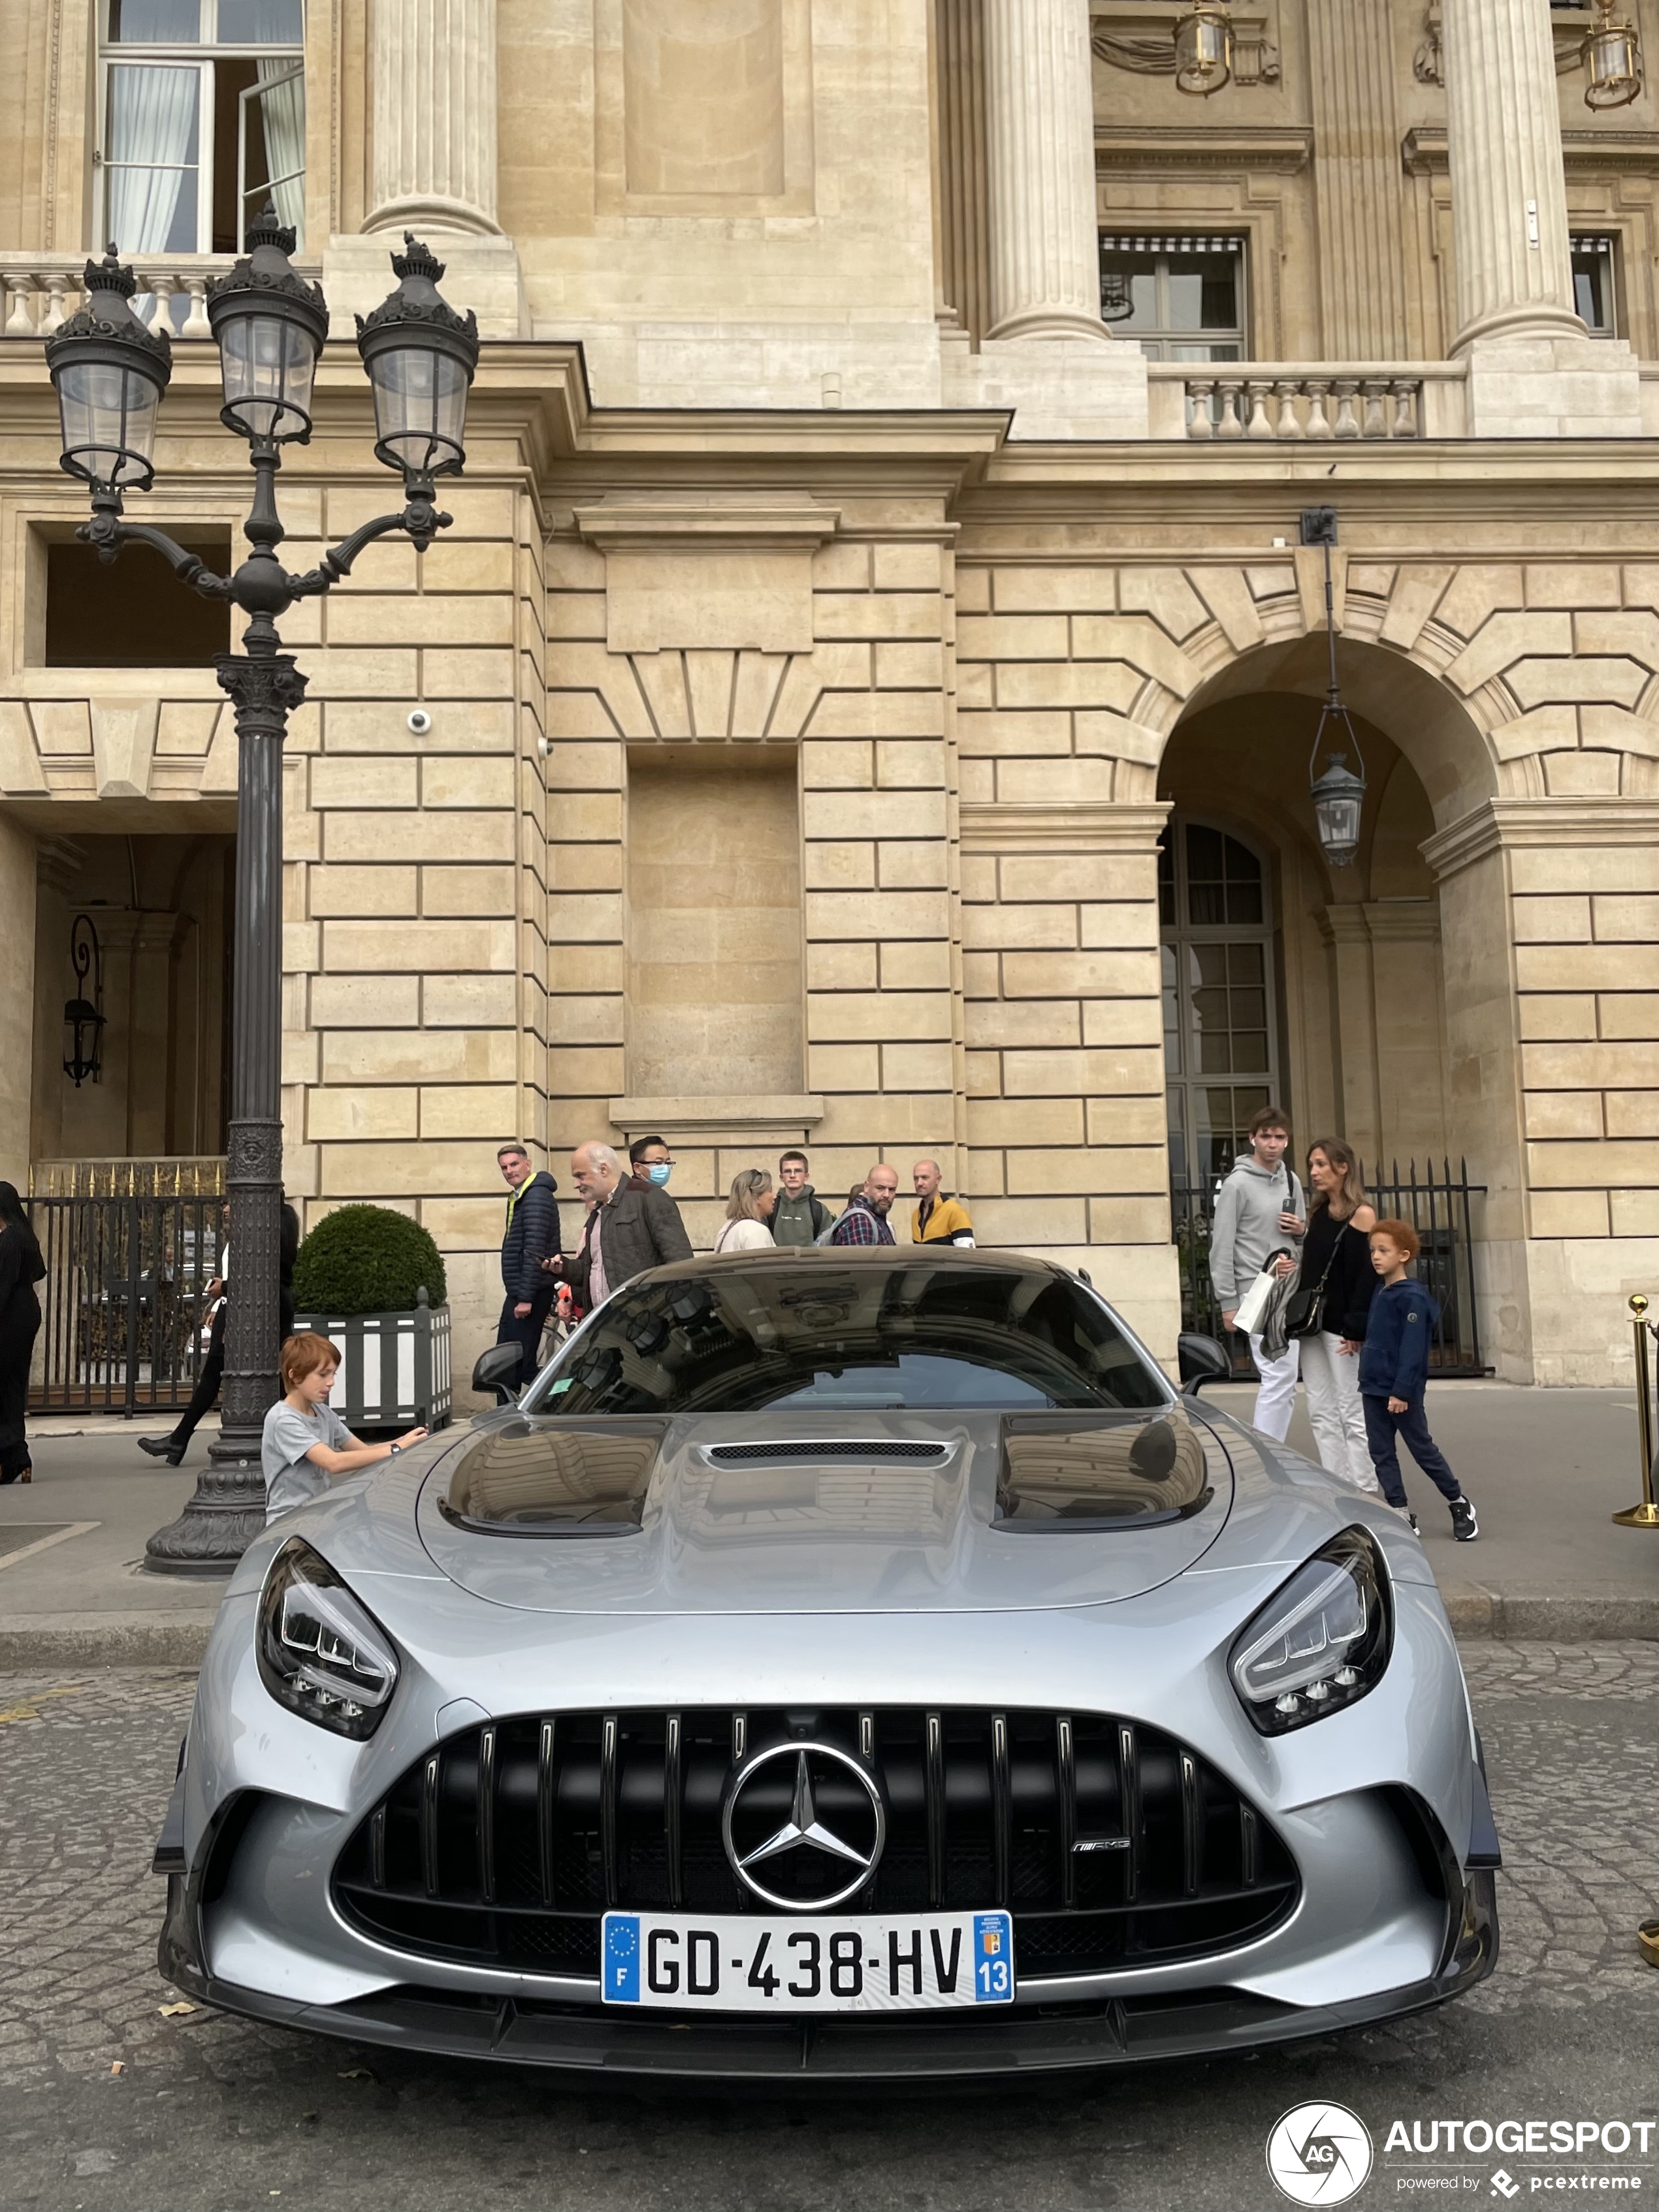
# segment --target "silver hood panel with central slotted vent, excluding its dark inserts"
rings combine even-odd
[[[1077,1416],[1055,1425],[1088,1422]],[[653,1425],[637,1526],[580,1517],[489,1526],[456,1517],[456,1471],[467,1453],[491,1455],[500,1500],[518,1469],[538,1451],[546,1455],[546,1438],[571,1429],[515,1416],[480,1425],[431,1467],[416,1524],[425,1553],[451,1582],[531,1613],[1018,1613],[1110,1604],[1186,1573],[1232,1509],[1228,1451],[1186,1402],[1095,1422],[1102,1464],[1121,1471],[1135,1440],[1159,1425],[1155,1444],[1166,1455],[1172,1431],[1188,1458],[1201,1458],[1199,1498],[1179,1515],[1108,1526],[1084,1524],[1075,1504],[1064,1509],[1071,1520],[1046,1517],[1046,1502],[1033,1520],[1000,1524],[1004,1418],[991,1411],[679,1418]],[[1086,1460],[1093,1447],[1084,1438],[1075,1449]]]

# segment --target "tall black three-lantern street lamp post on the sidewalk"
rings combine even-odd
[[[374,380],[376,453],[403,471],[405,504],[378,515],[296,575],[276,557],[276,469],[285,445],[312,434],[312,378],[327,338],[323,292],[290,265],[294,232],[274,208],[248,226],[248,254],[208,292],[219,341],[221,420],[248,440],[254,495],[243,524],[248,557],[234,575],[210,575],[166,531],[126,522],[124,491],[148,491],[155,467],[155,416],[170,374],[166,332],[148,332],[126,305],[133,272],[115,248],[86,263],[86,305],[46,341],[64,425],[62,465],[91,484],[93,520],[80,538],[111,562],[124,544],[148,544],[179,582],[206,599],[228,599],[248,615],[243,653],[221,653],[215,672],[237,712],[237,933],[230,1015],[230,1130],[226,1186],[237,1210],[237,1283],[226,1325],[223,1422],[208,1469],[177,1522],[146,1546],[146,1566],[170,1575],[223,1575],[265,1526],[259,1442],[276,1398],[276,1318],[281,1243],[281,765],[290,712],[305,677],[281,650],[276,617],[296,599],[319,597],[349,575],[363,546],[392,531],[431,544],[449,515],[436,509],[434,478],[460,471],[467,447],[467,387],[478,367],[478,323],[458,316],[436,290],[442,265],[405,234],[394,259],[403,279],[363,323],[363,354]],[[369,334],[396,330],[387,365],[372,361]],[[376,338],[378,347],[378,338]],[[383,383],[403,394],[383,405]],[[425,396],[425,398],[422,398]],[[403,414],[398,414],[398,405]],[[425,407],[425,411],[422,411]],[[398,431],[398,425],[400,431]]]

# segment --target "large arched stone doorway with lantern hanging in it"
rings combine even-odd
[[[1188,703],[1159,765],[1183,1310],[1188,1325],[1214,1327],[1214,1181],[1272,1095],[1296,1155],[1318,1135],[1345,1137],[1385,1210],[1418,1221],[1449,1316],[1438,1365],[1471,1371],[1495,1334],[1495,1316],[1480,1327],[1480,1292],[1491,1305],[1502,1272],[1489,1265],[1493,1225],[1520,1183],[1515,1055],[1495,1053],[1491,1031],[1498,1013],[1509,1020],[1509,995],[1498,1004],[1495,971],[1484,973],[1506,927],[1500,905],[1449,922],[1422,847],[1478,803],[1486,770],[1473,723],[1427,672],[1347,641],[1343,664],[1367,772],[1352,867],[1325,860],[1307,796],[1323,639],[1230,664]],[[1471,889],[1462,880],[1458,898]]]

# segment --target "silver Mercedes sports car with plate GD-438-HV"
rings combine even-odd
[[[1495,1865],[1405,1517],[1172,1391],[1084,1279],[949,1248],[637,1276],[518,1402],[281,1517],[157,1847],[208,2004],[790,2084],[1440,2004]]]

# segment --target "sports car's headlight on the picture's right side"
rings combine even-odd
[[[1365,1528],[1345,1528],[1267,1599],[1232,1646],[1228,1672],[1263,1736],[1356,1703],[1389,1663],[1387,1579]]]

